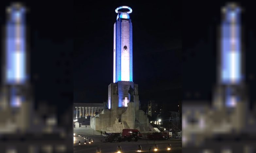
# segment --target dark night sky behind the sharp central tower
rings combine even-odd
[[[133,82],[140,101],[181,100],[181,2],[91,2],[75,3],[74,102],[107,100],[115,9],[123,5],[132,8]]]

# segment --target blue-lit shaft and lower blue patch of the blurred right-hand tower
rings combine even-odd
[[[221,26],[221,83],[226,85],[225,104],[236,106],[239,95],[232,93],[233,85],[242,81],[240,9],[228,6]]]

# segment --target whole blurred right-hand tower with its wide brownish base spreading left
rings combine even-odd
[[[213,90],[213,105],[183,105],[183,146],[201,145],[216,135],[232,136],[246,132],[249,123],[248,99],[244,82],[244,48],[240,23],[241,8],[230,3],[222,9],[220,26],[217,85]],[[254,124],[255,125],[255,124]],[[255,128],[254,128],[255,129]]]

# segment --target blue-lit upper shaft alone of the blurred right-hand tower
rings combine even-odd
[[[224,84],[238,84],[241,76],[241,34],[239,9],[227,9],[226,20],[222,23],[221,81]]]

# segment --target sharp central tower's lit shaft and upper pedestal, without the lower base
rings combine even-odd
[[[129,11],[119,11],[122,8],[127,8]],[[117,7],[115,12],[118,15],[114,23],[113,83],[109,85],[109,109],[127,107],[130,102],[130,94],[128,94],[130,86],[135,91],[134,95],[138,95],[138,85],[132,82],[132,23],[129,16],[132,9],[121,6]],[[136,103],[135,99],[134,97]]]

